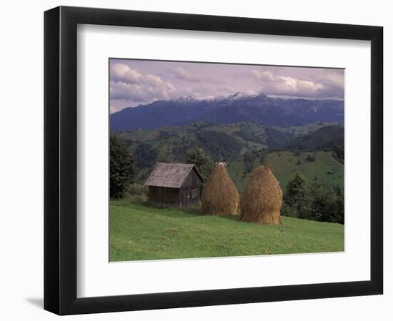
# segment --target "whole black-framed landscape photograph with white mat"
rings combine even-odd
[[[383,292],[383,29],[44,15],[44,308]]]

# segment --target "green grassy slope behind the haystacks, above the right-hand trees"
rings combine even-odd
[[[331,185],[339,185],[344,187],[344,165],[339,163],[332,157],[332,152],[318,151],[315,153],[315,161],[306,160],[307,155],[314,153],[300,153],[299,156],[294,155],[290,151],[277,151],[269,153],[266,159],[267,165],[279,180],[284,190],[289,180],[294,177],[294,171],[299,170],[304,175],[307,183],[312,183],[316,177],[318,181],[323,181]],[[253,168],[261,165],[259,159],[254,161]],[[229,175],[237,185],[239,193],[244,190],[249,175],[244,175],[244,162],[242,159],[229,162]],[[329,174],[329,170],[333,173]]]

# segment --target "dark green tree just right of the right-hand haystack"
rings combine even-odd
[[[296,171],[294,178],[287,184],[284,204],[287,213],[289,212],[298,218],[307,216],[307,186],[302,173]]]

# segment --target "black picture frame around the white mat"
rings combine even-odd
[[[370,280],[76,297],[76,26],[98,24],[371,41]],[[378,295],[383,292],[383,29],[60,6],[44,13],[44,309],[59,315]]]

